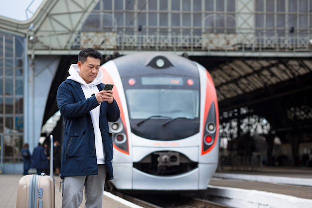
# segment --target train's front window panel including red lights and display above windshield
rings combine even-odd
[[[199,132],[199,79],[173,76],[123,80],[131,130],[152,140],[178,140]]]

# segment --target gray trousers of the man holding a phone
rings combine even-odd
[[[62,208],[79,208],[83,199],[83,188],[85,188],[85,208],[102,208],[105,179],[105,164],[98,165],[98,175],[64,177]]]

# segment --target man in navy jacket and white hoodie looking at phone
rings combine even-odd
[[[120,117],[113,91],[103,90],[102,54],[80,51],[70,76],[57,90],[57,105],[64,118],[61,159],[62,208],[78,208],[85,187],[86,208],[102,207],[105,180],[113,179],[113,145],[108,122]]]

